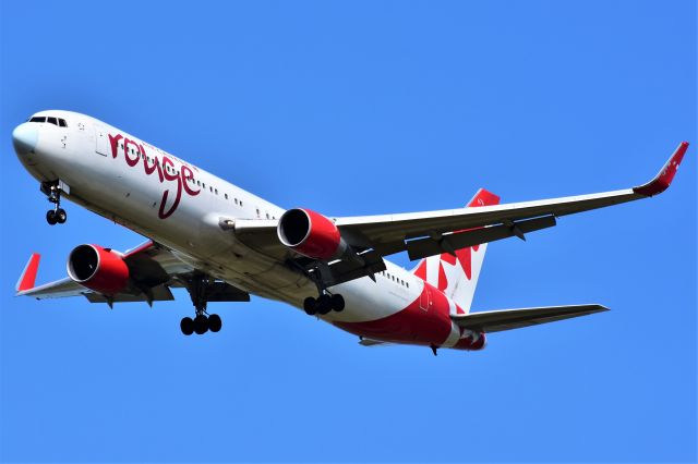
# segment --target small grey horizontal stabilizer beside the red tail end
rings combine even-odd
[[[601,305],[546,306],[540,308],[502,309],[466,315],[453,315],[450,318],[462,329],[477,332],[498,332],[519,329],[538,323],[554,322],[573,317],[609,310]]]

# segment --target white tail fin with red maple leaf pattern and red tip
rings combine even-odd
[[[468,208],[498,204],[498,196],[480,188],[468,203]],[[456,256],[448,253],[430,256],[422,259],[413,272],[452,298],[458,305],[459,314],[467,314],[470,312],[472,297],[476,294],[486,248],[488,244],[483,243],[457,249]]]

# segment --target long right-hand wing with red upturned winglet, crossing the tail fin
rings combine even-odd
[[[672,183],[687,148],[687,142],[681,143],[651,181],[619,191],[495,206],[334,218],[341,236],[368,258],[364,269],[347,261],[330,264],[347,268],[335,272],[334,283],[383,270],[381,258],[395,253],[407,252],[410,259],[420,259],[510,236],[526,240],[526,233],[553,227],[561,216],[658,195]],[[302,261],[300,255],[280,243],[277,224],[278,221],[269,220],[234,220],[232,227],[236,236],[252,248],[279,260]]]

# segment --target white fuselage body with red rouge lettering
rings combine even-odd
[[[282,208],[94,118],[68,111],[35,115],[41,114],[60,115],[68,127],[40,124],[34,152],[21,157],[39,181],[62,181],[69,199],[252,294],[299,308],[305,297],[317,295],[304,274],[251,249],[220,227],[226,219],[275,220]],[[377,320],[420,298],[424,281],[388,261],[386,267],[376,282],[366,277],[330,289],[344,295],[346,308],[322,318]],[[452,302],[449,306],[455,310]],[[449,339],[455,343],[458,335],[453,325]]]

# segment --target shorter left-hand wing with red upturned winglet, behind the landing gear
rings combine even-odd
[[[129,285],[121,293],[108,297],[87,289],[70,278],[35,286],[40,255],[29,258],[16,285],[16,296],[37,300],[85,296],[91,303],[146,302],[174,300],[171,288],[186,288],[196,269],[182,262],[168,248],[152,241],[122,255],[129,268]],[[250,295],[226,282],[213,281],[207,288],[208,302],[246,302]]]

